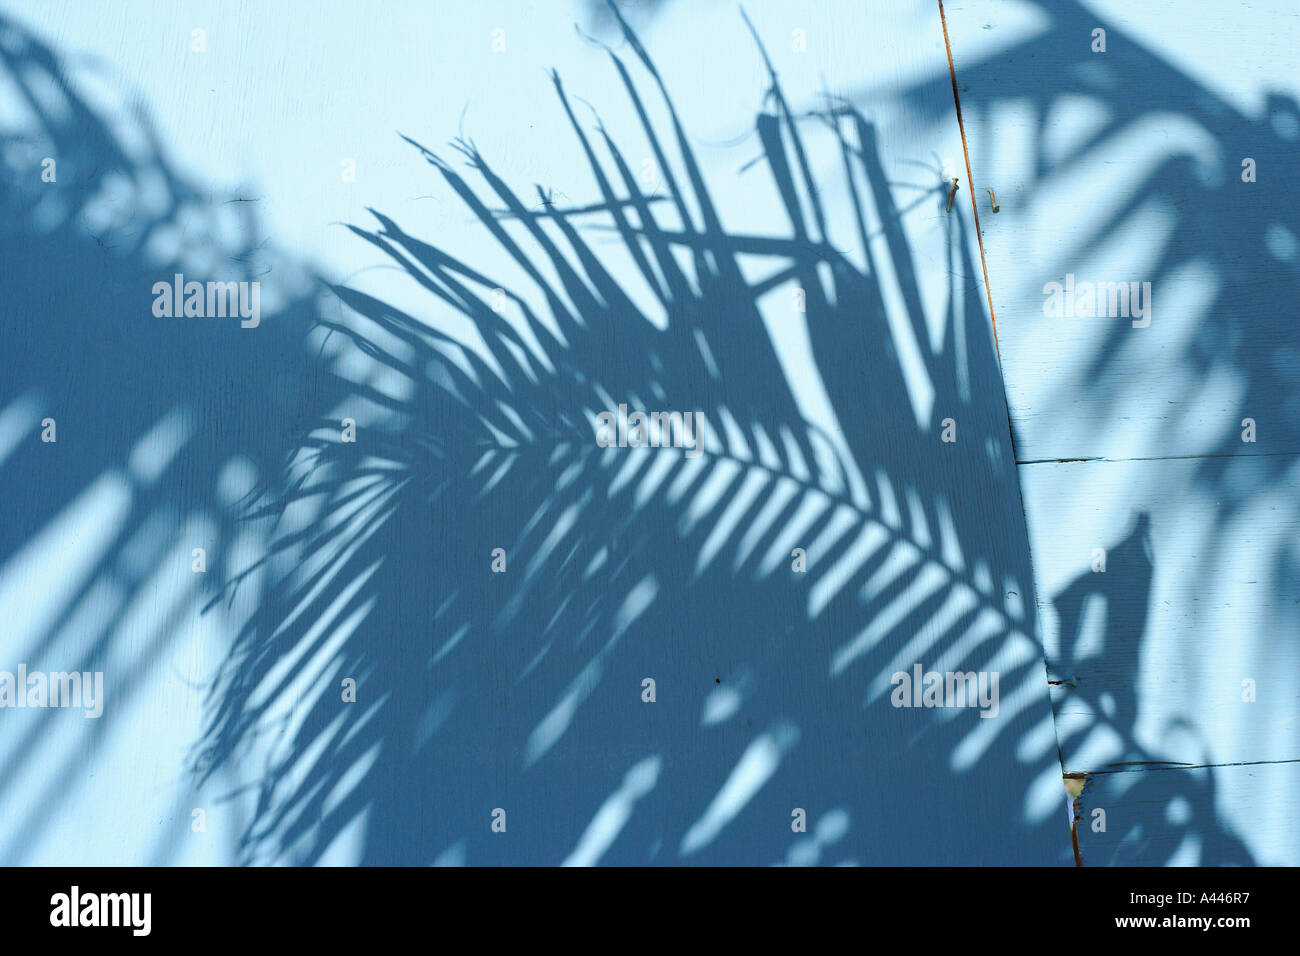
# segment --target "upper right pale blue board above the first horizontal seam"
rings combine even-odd
[[[1294,7],[971,3],[949,21],[975,178],[1001,203],[979,196],[1017,459],[1300,451]],[[1244,43],[1248,66],[1210,69]],[[1067,274],[1150,284],[1149,325],[1048,315]]]

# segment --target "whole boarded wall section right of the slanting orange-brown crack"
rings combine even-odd
[[[945,8],[1082,862],[1300,864],[1300,9]]]

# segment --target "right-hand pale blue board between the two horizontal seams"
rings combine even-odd
[[[1066,770],[1300,756],[1300,468],[1234,512],[1204,467],[1020,468]],[[1268,462],[1223,467],[1244,485]]]

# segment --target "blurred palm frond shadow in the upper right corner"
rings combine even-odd
[[[1079,173],[1093,155],[1122,142],[1143,124],[1156,118],[1169,121],[1176,117],[1188,125],[1196,125],[1209,134],[1217,147],[1248,146],[1247,151],[1268,166],[1284,163],[1295,153],[1295,143],[1300,137],[1300,104],[1290,96],[1270,94],[1265,116],[1245,116],[1136,36],[1098,20],[1095,12],[1076,0],[1039,5],[1049,23],[1045,30],[1048,38],[1087,36],[1095,27],[1104,27],[1115,42],[1105,56],[1096,56],[1087,44],[1080,52],[1080,44],[1035,35],[1001,55],[1000,61],[1014,61],[1018,69],[1023,66],[1028,70],[1022,77],[1022,85],[1009,91],[1006,99],[1027,103],[1034,117],[1030,127],[1034,189],[1046,189],[1052,179]],[[1062,56],[1035,56],[1045,42],[1061,49]],[[982,92],[996,91],[1001,88],[996,81],[997,69],[997,61],[967,65],[962,72],[963,81]],[[946,83],[946,78],[942,82]],[[1117,90],[1131,86],[1140,86],[1143,95],[1117,94]],[[918,111],[926,109],[932,101],[927,96],[927,88],[932,87],[907,91],[909,105]],[[1104,103],[1108,109],[1105,121],[1091,131],[1080,148],[1049,148],[1052,124],[1060,116],[1062,104],[1080,96]],[[1004,98],[994,94],[987,99],[972,99],[968,109],[976,117],[987,117],[1004,105]],[[993,148],[991,143],[984,143],[976,144],[976,151],[980,146],[989,151]],[[975,156],[972,163],[980,159],[983,157]],[[1209,376],[1218,367],[1247,372],[1247,389],[1236,403],[1238,408],[1266,407],[1271,397],[1290,392],[1296,371],[1290,359],[1294,358],[1297,342],[1294,337],[1278,341],[1249,336],[1243,329],[1251,328],[1251,316],[1275,311],[1278,302],[1294,300],[1300,294],[1300,272],[1270,251],[1268,234],[1270,226],[1283,226],[1292,235],[1300,233],[1300,215],[1296,213],[1300,194],[1286,177],[1279,177],[1264,189],[1239,189],[1242,157],[1235,152],[1228,155],[1225,150],[1222,156],[1214,157],[1222,161],[1222,168],[1208,168],[1209,159],[1184,150],[1182,144],[1174,147],[1161,163],[1143,170],[1140,179],[1122,183],[1130,199],[1119,204],[1113,216],[1093,224],[1086,241],[1071,250],[1071,255],[1084,258],[1105,247],[1144,207],[1158,204],[1173,209],[1176,219],[1169,229],[1169,241],[1161,246],[1160,256],[1149,271],[1152,285],[1158,287],[1180,268],[1206,260],[1214,265],[1214,274],[1221,285],[1205,303],[1205,312],[1234,320],[1202,323],[1196,334],[1179,343],[1179,359],[1200,376]],[[1019,202],[1034,199],[1031,191]],[[1249,274],[1234,268],[1244,256],[1249,256],[1257,267]],[[1061,267],[1063,272],[1067,263],[1062,261]],[[1123,336],[1124,329],[1117,324],[1105,338],[1095,343],[1092,354],[1087,356],[1089,378],[1100,381],[1123,355]],[[1284,352],[1287,360],[1278,360],[1278,351]],[[1098,389],[1097,398],[1105,397]],[[1122,401],[1122,395],[1113,394],[1112,403]],[[1286,414],[1270,420],[1270,451],[1300,450],[1300,414],[1296,414],[1295,403],[1290,403],[1284,411]],[[1238,436],[1226,436],[1213,449],[1213,455],[1206,454],[1202,466],[1205,480],[1222,483],[1223,470],[1230,466],[1225,459],[1240,450]],[[1277,480],[1287,467],[1284,460],[1268,464],[1270,470],[1265,483]],[[1230,484],[1219,486],[1225,492],[1232,492],[1225,498],[1227,507],[1223,522],[1231,520],[1236,507],[1249,498],[1249,493],[1258,490],[1236,489]]]

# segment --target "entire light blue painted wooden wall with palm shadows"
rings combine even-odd
[[[1300,864],[1300,17],[1134,7],[0,0],[0,864]]]

